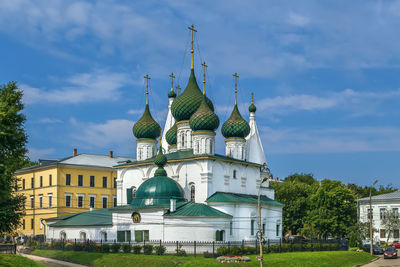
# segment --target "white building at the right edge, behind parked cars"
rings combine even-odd
[[[358,202],[358,214],[360,222],[369,222],[370,199],[369,197],[360,198]],[[388,229],[382,225],[382,219],[388,211],[393,211],[399,219],[400,209],[400,192],[392,192],[372,197],[372,223],[373,227],[378,230],[374,233],[374,242],[386,242],[388,239]],[[390,233],[389,242],[399,241],[399,229],[394,229]]]

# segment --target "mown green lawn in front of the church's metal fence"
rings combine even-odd
[[[35,250],[34,255],[56,258],[70,262],[94,266],[219,266],[216,259],[197,257],[177,257],[170,255],[136,255],[126,253],[88,253],[60,250]],[[229,266],[259,266],[256,256],[250,256],[248,263],[230,263]],[[322,252],[292,252],[264,255],[266,266],[355,266],[374,259],[365,252],[353,251],[322,251]],[[226,265],[226,264],[225,264]]]

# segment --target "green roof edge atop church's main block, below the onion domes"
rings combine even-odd
[[[167,161],[168,162],[169,161],[180,161],[180,160],[183,161],[183,160],[188,160],[188,159],[196,159],[196,158],[206,157],[206,158],[214,159],[214,160],[237,162],[237,163],[243,164],[243,165],[253,165],[253,166],[256,166],[256,167],[262,167],[263,166],[263,165],[258,164],[258,163],[244,161],[244,160],[238,160],[238,159],[234,159],[234,158],[223,156],[223,155],[219,155],[219,154],[215,154],[215,155],[208,155],[208,154],[194,155],[192,149],[180,150],[180,151],[168,153],[168,154],[165,154],[165,156],[167,157]],[[132,161],[132,162],[129,162],[129,163],[119,164],[119,165],[114,166],[114,168],[122,168],[122,167],[142,165],[142,164],[149,164],[149,165],[150,164],[154,164],[154,157],[146,159],[146,160]]]

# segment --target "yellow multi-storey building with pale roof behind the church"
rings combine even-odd
[[[42,219],[117,205],[117,172],[112,166],[134,160],[109,155],[77,154],[61,160],[39,159],[39,165],[15,172],[25,199],[19,235],[45,234]]]

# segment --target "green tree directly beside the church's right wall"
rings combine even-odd
[[[293,174],[283,182],[271,182],[275,199],[283,207],[283,232],[296,235],[303,228],[303,221],[309,208],[309,196],[317,189],[318,182],[311,174]]]

